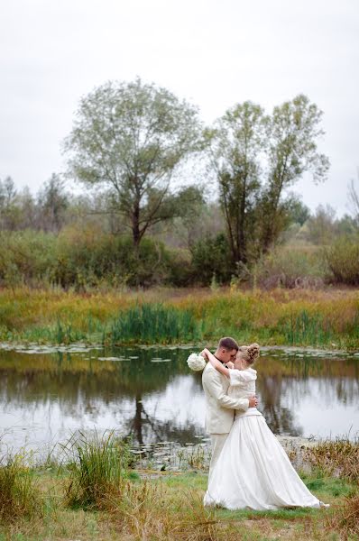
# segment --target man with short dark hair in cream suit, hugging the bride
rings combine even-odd
[[[226,364],[226,362],[235,361],[237,351],[238,344],[233,338],[221,338],[216,348],[215,357],[218,361]],[[201,354],[203,355],[203,352]],[[228,378],[216,371],[210,362],[207,362],[203,371],[202,384],[206,395],[206,430],[212,444],[212,458],[209,464],[210,476],[233,425],[235,409],[246,411],[248,408],[255,408],[258,400],[254,396],[250,399],[229,397],[226,394],[229,387]]]

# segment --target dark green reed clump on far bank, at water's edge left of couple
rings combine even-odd
[[[193,342],[200,338],[200,326],[192,311],[143,304],[118,316],[111,327],[112,344],[170,344]]]

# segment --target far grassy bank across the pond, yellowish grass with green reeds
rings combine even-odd
[[[150,289],[79,294],[3,289],[0,340],[104,344],[241,343],[359,348],[354,289]]]

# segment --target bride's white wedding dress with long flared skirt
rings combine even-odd
[[[255,394],[257,372],[230,370],[228,394]],[[257,408],[236,411],[235,422],[208,482],[205,505],[226,509],[319,508]]]

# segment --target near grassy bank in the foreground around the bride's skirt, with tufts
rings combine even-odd
[[[3,458],[1,541],[339,540],[359,534],[359,472],[351,466],[357,461],[357,442],[311,448],[313,467],[302,479],[330,509],[265,512],[204,509],[207,473],[200,463],[189,472],[136,471],[129,467],[126,445],[111,434],[80,436],[68,444],[67,462],[61,464],[29,468],[21,456]],[[347,467],[334,473],[343,449]],[[21,505],[14,508],[16,501]]]

